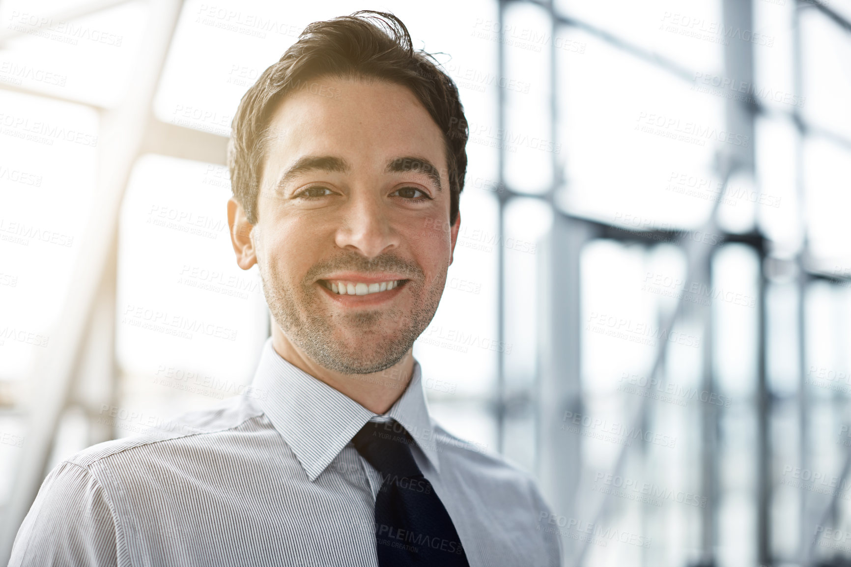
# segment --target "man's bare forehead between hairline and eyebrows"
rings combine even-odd
[[[356,169],[420,155],[446,175],[442,132],[414,93],[396,83],[304,81],[277,104],[267,132],[265,173],[311,154],[337,155]]]

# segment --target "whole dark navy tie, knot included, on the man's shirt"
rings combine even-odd
[[[351,443],[381,474],[375,497],[379,567],[469,567],[452,518],[414,462],[414,439],[405,428],[369,421]]]

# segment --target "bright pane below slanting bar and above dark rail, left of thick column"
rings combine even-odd
[[[559,55],[560,203],[633,229],[705,221],[719,199],[715,152],[752,143],[725,128],[723,100],[596,37],[565,36],[587,48]]]

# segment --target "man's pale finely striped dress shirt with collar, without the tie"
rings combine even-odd
[[[419,363],[381,416],[289,364],[271,340],[246,394],[54,468],[9,564],[374,567],[381,478],[350,441],[367,421],[389,418],[414,438],[414,460],[471,567],[560,565],[534,480],[431,419]]]

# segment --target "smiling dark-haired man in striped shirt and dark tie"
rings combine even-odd
[[[400,20],[308,26],[233,122],[231,241],[272,318],[251,395],[62,463],[11,564],[560,564],[532,479],[431,420],[412,356],[466,137]]]

